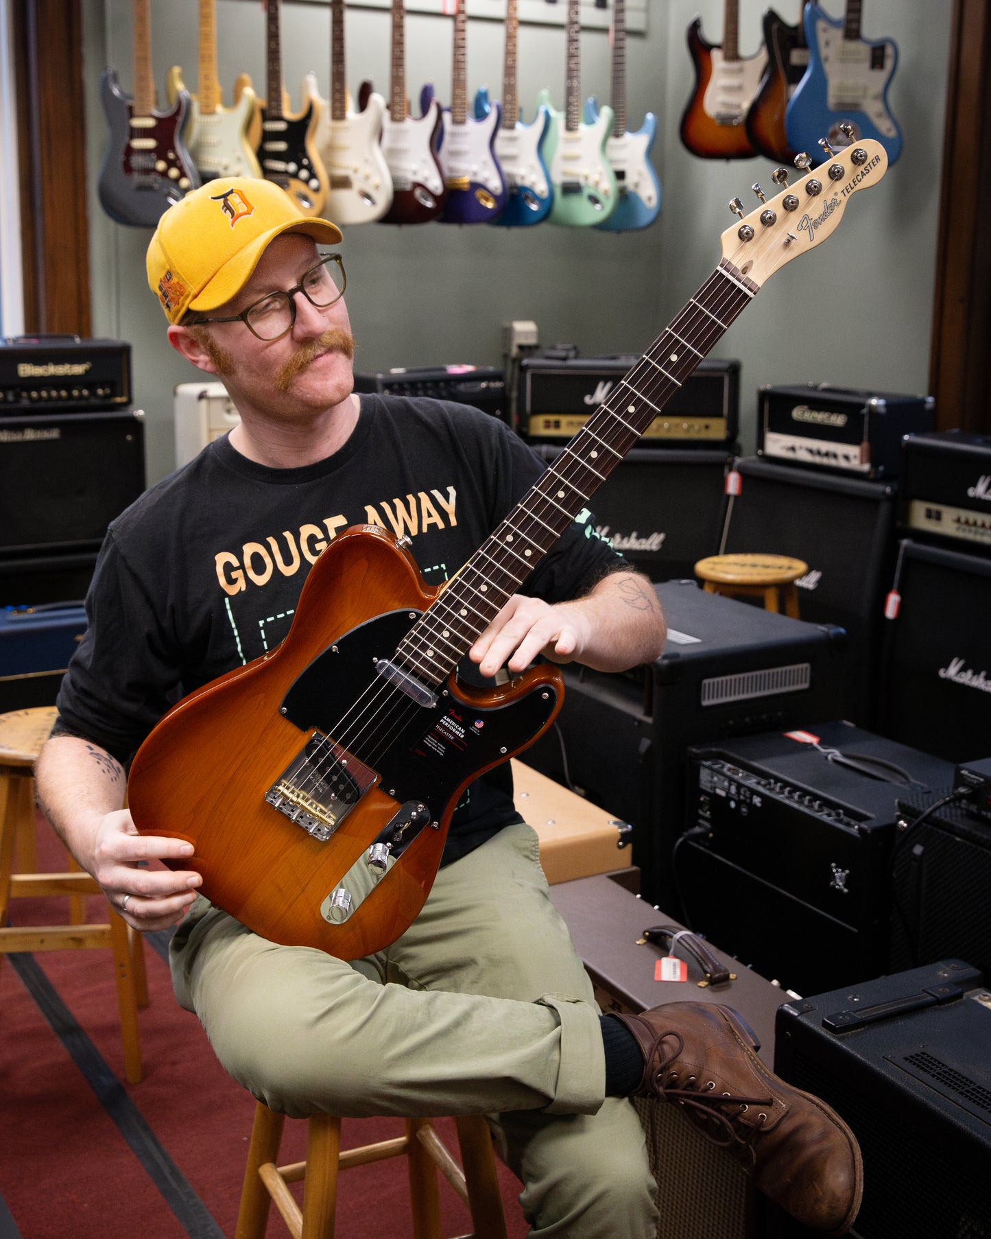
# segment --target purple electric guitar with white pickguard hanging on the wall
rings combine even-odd
[[[451,85],[451,107],[443,109],[441,142],[437,160],[447,186],[447,201],[441,223],[482,224],[494,219],[505,206],[509,188],[496,157],[496,129],[502,109],[494,103],[481,120],[468,115],[468,85],[465,42],[468,17],[465,0],[456,0],[455,58]],[[424,87],[421,100],[432,98],[434,89]],[[424,103],[422,110],[426,112]]]

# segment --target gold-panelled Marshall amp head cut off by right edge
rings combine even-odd
[[[918,435],[903,455],[902,524],[922,540],[991,553],[991,435]]]

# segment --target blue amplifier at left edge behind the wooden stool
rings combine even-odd
[[[55,705],[84,631],[78,603],[0,608],[0,711]]]

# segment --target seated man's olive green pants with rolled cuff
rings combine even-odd
[[[535,1233],[657,1235],[643,1131],[628,1100],[603,1098],[598,1007],[530,826],[441,870],[406,933],[352,963],[197,900],[172,979],[224,1068],[273,1109],[486,1113]]]

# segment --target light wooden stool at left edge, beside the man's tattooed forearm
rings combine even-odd
[[[0,961],[21,950],[64,950],[103,948],[113,953],[116,975],[124,1069],[130,1084],[141,1079],[141,1046],[138,1041],[138,1007],[147,1006],[147,978],[141,935],[110,907],[105,924],[85,922],[84,898],[102,895],[95,878],[76,862],[68,872],[15,873],[14,847],[19,865],[35,860],[33,766],[56,719],[55,706],[36,706],[0,715]],[[68,924],[9,926],[11,898],[68,896],[76,901]]]

